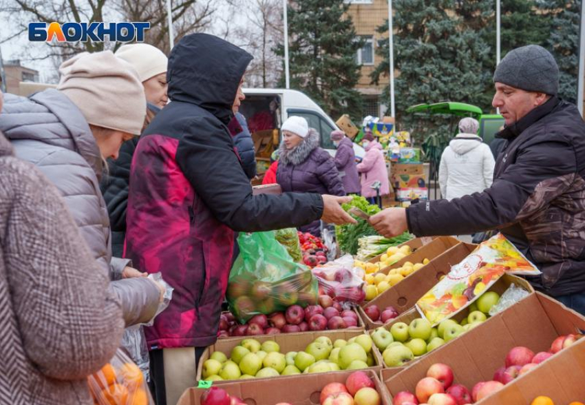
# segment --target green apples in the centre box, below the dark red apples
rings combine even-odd
[[[262,344],[253,338],[242,340],[230,357],[220,351],[211,353],[203,363],[204,380],[238,380],[277,377],[300,373],[327,373],[358,370],[374,366],[372,337],[367,334],[332,342],[327,336],[317,337],[304,351],[280,353],[273,340]]]

